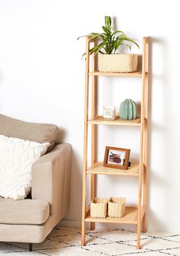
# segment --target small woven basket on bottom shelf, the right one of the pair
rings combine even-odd
[[[108,201],[108,216],[112,218],[122,218],[125,212],[126,199],[122,197],[112,197]]]

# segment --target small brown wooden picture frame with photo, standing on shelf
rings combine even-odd
[[[128,169],[130,149],[106,146],[103,166],[117,169]]]

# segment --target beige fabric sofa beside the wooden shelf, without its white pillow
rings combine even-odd
[[[25,123],[0,114],[0,134],[51,143],[32,166],[31,198],[0,197],[0,241],[40,243],[67,213],[70,193],[71,146],[55,144],[57,127]]]

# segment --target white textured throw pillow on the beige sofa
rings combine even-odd
[[[0,135],[0,195],[25,199],[31,190],[31,166],[50,143]]]

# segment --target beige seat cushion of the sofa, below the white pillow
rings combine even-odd
[[[49,204],[37,199],[13,200],[0,197],[0,223],[41,225],[49,217]]]

